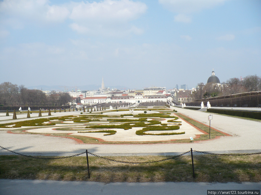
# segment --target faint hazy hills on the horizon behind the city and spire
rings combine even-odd
[[[80,89],[81,91],[90,91],[90,90],[99,90],[101,85],[82,85],[78,86],[76,89]],[[128,90],[129,87],[125,86],[105,86],[105,88],[110,88],[110,89],[118,89],[118,90]],[[59,85],[53,85],[53,86],[46,86],[46,85],[38,85],[38,86],[29,86],[27,87],[28,89],[38,89],[38,90],[43,90],[43,91],[75,91],[75,87],[68,87],[68,86],[59,86]]]

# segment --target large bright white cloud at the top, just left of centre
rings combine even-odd
[[[103,36],[126,36],[142,34],[143,29],[130,25],[129,21],[139,18],[147,10],[144,3],[129,0],[104,0],[81,2],[73,7],[70,27],[79,33]]]

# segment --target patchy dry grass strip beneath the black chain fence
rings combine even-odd
[[[156,161],[164,156],[109,157],[120,161]],[[191,156],[150,164],[123,164],[89,157],[67,159],[32,159],[18,155],[0,156],[1,179],[39,179],[96,182],[260,182],[261,155],[195,155],[192,176]]]

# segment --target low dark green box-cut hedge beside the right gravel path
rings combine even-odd
[[[261,120],[261,112],[250,112],[242,110],[233,110],[233,109],[207,109],[207,112],[226,114],[231,116],[240,116],[245,118],[254,118]]]

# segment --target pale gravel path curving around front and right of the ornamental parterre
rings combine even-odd
[[[171,107],[190,118],[209,124],[209,113]],[[59,115],[72,115],[64,112]],[[3,117],[4,118],[4,117]],[[3,120],[1,117],[0,120]],[[27,119],[28,120],[28,119]],[[2,123],[3,121],[1,121]],[[74,140],[44,135],[11,134],[0,131],[0,146],[19,153],[172,153],[186,152],[190,148],[199,151],[260,150],[261,123],[251,120],[213,114],[211,127],[232,136],[219,139],[182,144],[77,144]],[[6,151],[0,149],[0,153]]]

